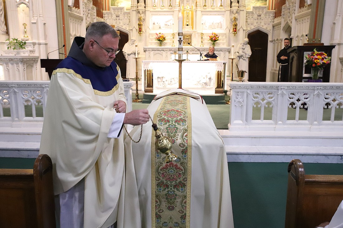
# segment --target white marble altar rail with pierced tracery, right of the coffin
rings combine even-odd
[[[229,86],[229,131],[343,131],[342,83],[231,82]]]

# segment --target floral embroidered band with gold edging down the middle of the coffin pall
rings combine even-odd
[[[152,131],[152,227],[190,227],[191,191],[191,111],[189,97],[164,97],[154,114],[158,129],[173,140],[172,153],[178,158],[164,162],[165,155],[155,150]]]

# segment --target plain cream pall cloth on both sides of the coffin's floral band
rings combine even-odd
[[[175,96],[175,95],[173,95]],[[163,98],[153,100],[147,108],[154,116]],[[225,146],[210,113],[201,101],[190,98],[191,109],[191,193],[190,228],[233,228],[233,214]],[[151,121],[143,125],[142,139],[132,142],[132,153],[139,191],[142,227],[155,227],[152,216]],[[141,126],[130,135],[140,136]],[[130,140],[128,137],[126,140]],[[153,142],[154,143],[154,142]],[[155,154],[155,153],[154,153]],[[165,155],[163,155],[165,156]]]

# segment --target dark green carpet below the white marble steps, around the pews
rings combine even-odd
[[[35,159],[0,158],[0,168],[33,168]],[[288,163],[229,162],[235,228],[284,227]],[[343,175],[343,164],[304,163],[306,174]]]

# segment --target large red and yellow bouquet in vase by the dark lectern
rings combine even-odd
[[[305,65],[311,67],[312,79],[317,80],[322,69],[331,62],[331,57],[325,52],[318,52],[316,49],[310,54],[305,55]]]

